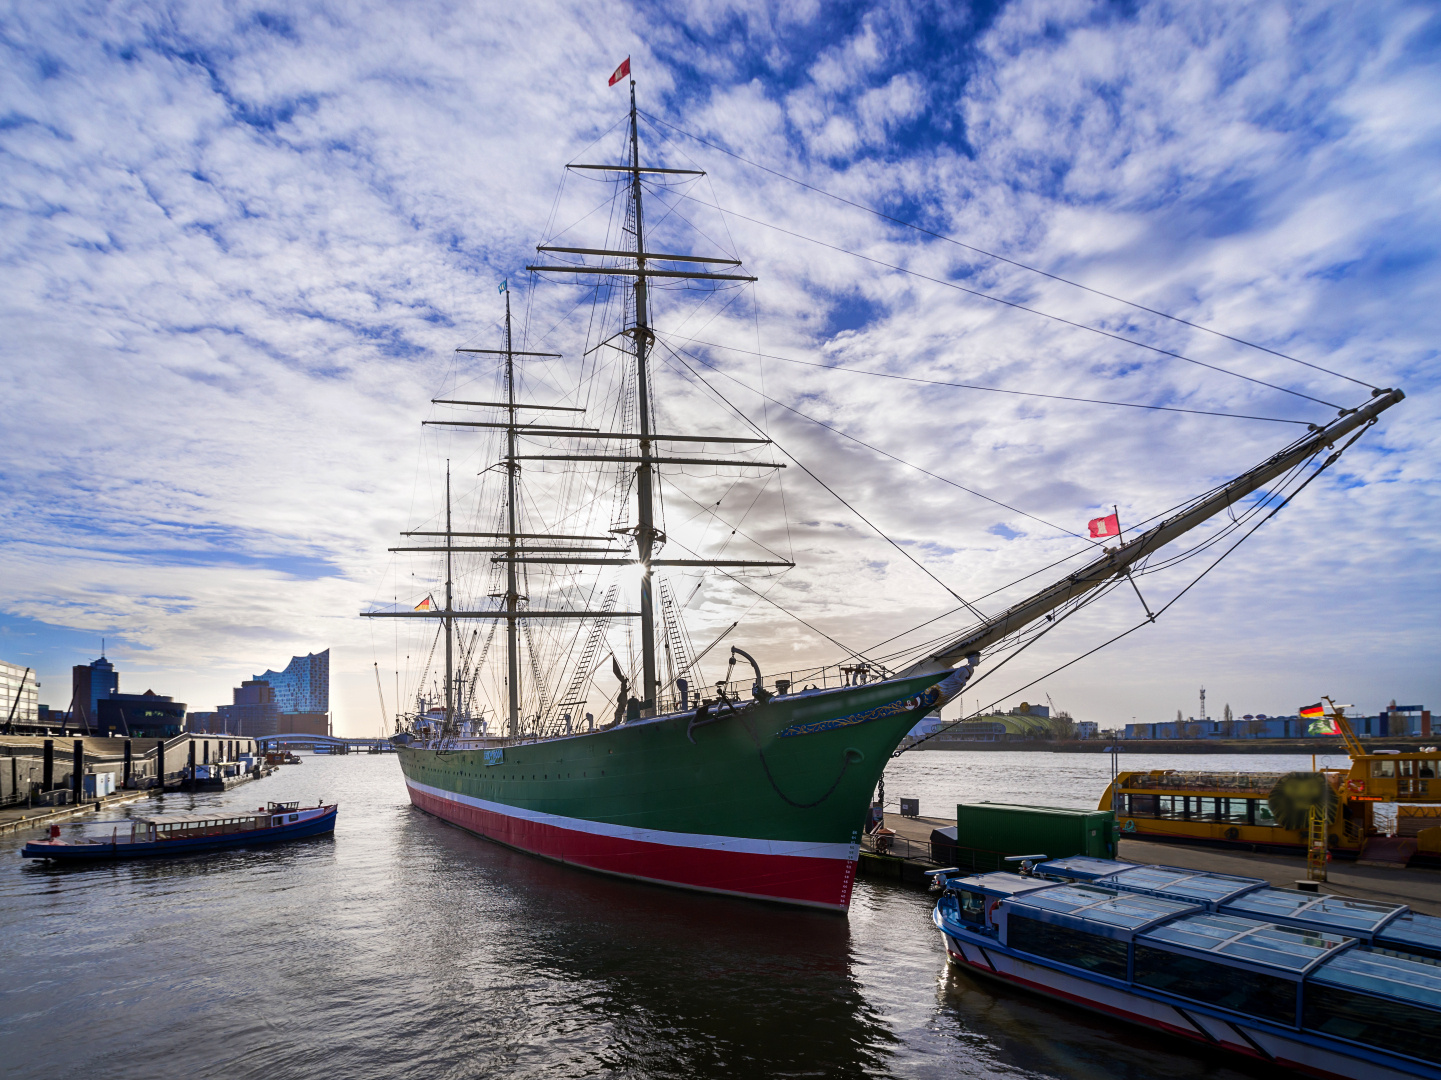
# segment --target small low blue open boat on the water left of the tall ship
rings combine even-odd
[[[55,862],[99,862],[167,855],[193,855],[225,848],[254,848],[334,832],[339,803],[301,809],[300,803],[267,803],[258,810],[216,813],[169,813],[133,818],[128,832],[117,825],[110,838],[61,839],[61,826],[50,826],[49,839],[30,841],[20,851],[27,859]]]

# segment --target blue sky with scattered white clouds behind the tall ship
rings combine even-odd
[[[419,421],[494,389],[454,349],[500,342],[497,283],[568,358],[527,391],[618,378],[575,359],[582,291],[525,265],[605,234],[565,164],[620,160],[630,55],[647,160],[708,173],[654,190],[656,242],[758,278],[657,296],[657,422],[751,422],[788,464],[677,470],[674,544],[797,562],[677,578],[696,645],[739,620],[715,655],[781,672],[994,613],[1112,505],[1150,519],[1399,386],[1154,626],[1042,679],[1143,616],[1114,591],[977,694],[1102,727],[1200,686],[1212,715],[1432,705],[1438,46],[1432,4],[1385,1],[4,4],[0,659],[63,708],[104,639],[122,691],[210,709],[330,647],[336,730],[373,731],[424,643],[359,613],[438,570],[386,548],[434,528],[447,459],[488,519],[494,444]]]

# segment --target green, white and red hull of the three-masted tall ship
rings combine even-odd
[[[965,669],[945,679],[964,682]],[[408,745],[419,809],[559,862],[844,911],[866,810],[941,676],[682,712],[503,747]]]

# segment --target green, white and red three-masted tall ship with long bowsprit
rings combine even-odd
[[[429,649],[422,682],[432,670],[434,681],[396,738],[412,803],[519,851],[637,881],[846,911],[878,780],[922,717],[987,662],[999,666],[1130,583],[1163,546],[1259,489],[1314,476],[1404,398],[1376,391],[1130,539],[1085,548],[1075,570],[1020,603],[991,616],[971,608],[967,629],[896,669],[850,655],[767,676],[732,645],[720,653],[725,678],[708,683],[702,663],[726,634],[696,649],[687,597],[666,574],[710,574],[749,603],[746,590],[759,591],[745,574],[794,562],[758,541],[759,551],[736,554],[769,558],[728,557],[741,523],[715,513],[719,499],[690,506],[673,484],[705,470],[755,486],[785,463],[757,457],[782,456],[759,427],[686,431],[674,417],[695,415],[695,395],[657,402],[657,360],[680,372],[676,382],[686,372],[683,353],[656,329],[657,301],[755,278],[741,258],[651,242],[648,200],[703,173],[643,164],[634,81],[627,124],[623,160],[566,173],[610,185],[610,202],[591,218],[608,216],[608,238],[542,244],[543,261],[527,267],[591,290],[585,355],[565,368],[558,353],[526,348],[525,324],[517,343],[512,291],[501,286],[501,348],[457,350],[494,365],[494,391],[435,399],[474,412],[427,421],[488,437],[494,457],[480,463],[476,483],[473,470],[452,476],[447,464],[442,512],[406,534],[424,545],[395,549],[432,559],[444,594],[415,610],[365,613],[435,627],[421,645]],[[673,200],[659,216],[674,222],[674,211]],[[438,480],[438,460],[435,469]],[[458,476],[465,490],[452,502]],[[682,516],[674,505],[719,522],[718,551],[683,546],[666,528],[666,506]],[[1257,505],[1262,515],[1280,509]],[[726,632],[742,643],[744,619]],[[744,678],[733,678],[738,665]],[[486,692],[490,714],[476,705]]]

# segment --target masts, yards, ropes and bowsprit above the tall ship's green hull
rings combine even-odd
[[[571,395],[574,395],[576,402],[585,401],[586,404],[540,404],[537,401],[520,399],[517,388],[525,382],[522,379],[522,369],[526,365],[539,366],[550,360],[559,360],[562,355],[517,349],[514,346],[512,294],[507,287],[503,287],[506,306],[503,348],[457,349],[457,353],[465,356],[493,358],[496,360],[500,392],[490,397],[499,397],[500,399],[471,399],[470,397],[435,398],[434,404],[437,405],[478,410],[478,412],[473,414],[473,417],[478,418],[425,421],[425,424],[434,427],[500,435],[499,460],[481,470],[481,487],[484,487],[487,477],[496,474],[501,477],[501,490],[497,493],[499,497],[493,500],[496,506],[493,512],[494,518],[490,522],[493,531],[458,531],[454,528],[451,476],[447,467],[445,528],[442,531],[414,529],[405,534],[406,536],[432,538],[437,542],[392,548],[393,552],[431,554],[442,559],[445,577],[444,607],[438,611],[366,613],[376,617],[440,620],[438,636],[434,645],[438,645],[440,639],[444,639],[445,675],[438,695],[441,698],[438,708],[441,714],[440,727],[447,735],[455,735],[461,730],[463,722],[470,724],[484,715],[486,709],[478,704],[481,698],[488,699],[493,704],[493,712],[501,718],[501,727],[488,734],[503,732],[510,738],[569,732],[576,730],[582,722],[607,722],[610,720],[610,702],[605,701],[608,691],[599,688],[595,678],[605,670],[607,655],[612,658],[617,672],[623,668],[617,656],[618,650],[614,646],[608,647],[612,626],[617,623],[627,626],[627,636],[638,630],[640,639],[638,649],[635,650],[637,655],[625,655],[624,658],[624,668],[627,670],[621,679],[621,685],[634,688],[635,695],[630,702],[624,701],[624,696],[617,702],[618,714],[640,718],[653,715],[657,709],[663,708],[683,708],[686,704],[684,699],[692,698],[692,688],[699,689],[699,686],[703,686],[703,683],[697,682],[699,662],[715,643],[702,650],[700,655],[696,655],[683,620],[689,598],[682,601],[676,596],[674,587],[660,578],[657,571],[670,568],[682,572],[710,572],[718,578],[728,580],[754,593],[757,597],[755,604],[765,601],[775,604],[782,611],[785,610],[769,596],[769,590],[761,591],[749,584],[744,572],[757,570],[784,571],[794,565],[790,558],[720,558],[719,555],[725,554],[723,546],[720,552],[706,557],[699,551],[687,549],[666,534],[661,506],[661,467],[672,470],[693,467],[712,470],[739,469],[744,474],[754,474],[784,469],[787,463],[780,460],[757,460],[748,454],[748,451],[758,447],[772,447],[775,450],[781,450],[781,447],[772,443],[768,431],[755,425],[731,404],[723,392],[716,389],[713,382],[706,379],[705,368],[709,365],[705,358],[696,356],[679,343],[669,342],[667,336],[659,335],[653,326],[651,307],[654,291],[660,287],[726,288],[751,284],[755,281],[755,277],[744,273],[742,260],[723,254],[647,251],[647,183],[669,183],[674,179],[699,177],[703,173],[692,169],[641,164],[634,81],[630,84],[630,92],[628,160],[623,164],[586,163],[568,166],[568,169],[576,173],[610,179],[617,186],[620,198],[615,199],[612,211],[618,209],[620,218],[618,221],[612,219],[612,228],[618,235],[618,242],[612,247],[542,244],[536,249],[542,255],[550,257],[549,261],[526,267],[533,278],[556,277],[575,284],[586,284],[594,301],[591,313],[592,329],[614,326],[617,319],[620,322],[620,329],[614,333],[605,333],[601,329],[595,335],[599,340],[586,349],[582,358],[581,385],[585,385],[585,394],[578,386],[571,391]],[[680,198],[690,196],[682,193]],[[667,209],[669,213],[674,213],[674,206]],[[765,222],[759,223],[764,225]],[[843,251],[842,248],[836,249]],[[859,257],[867,258],[866,255]],[[912,273],[901,267],[892,268],[902,273]],[[954,283],[941,281],[940,284],[954,287]],[[981,294],[977,293],[977,296]],[[994,300],[996,297],[986,298]],[[1007,301],[1003,300],[1001,303]],[[1016,304],[1012,306],[1014,307]],[[1032,309],[1026,307],[1023,310]],[[1115,337],[1115,335],[1108,336]],[[1134,345],[1136,342],[1131,343]],[[705,343],[702,342],[700,345]],[[1197,360],[1172,350],[1159,352],[1197,363]],[[604,365],[599,359],[602,353],[618,355],[623,360],[610,365],[607,375],[602,375]],[[657,422],[657,410],[653,401],[653,379],[657,358],[673,368],[680,378],[692,379],[697,388],[716,397],[723,407],[729,408],[752,428],[751,433],[684,434],[667,431],[664,424]],[[588,375],[585,373],[586,363],[589,365]],[[1212,365],[1202,363],[1202,366]],[[1218,371],[1222,369],[1218,368]],[[731,373],[722,373],[725,378],[733,381]],[[1236,375],[1236,372],[1226,373]],[[607,378],[611,389],[615,391],[607,425],[611,430],[579,422],[582,417],[589,418],[594,412],[599,411],[594,402],[601,395],[592,391],[605,384]],[[1236,375],[1236,378],[1259,382],[1245,375]],[[571,397],[562,388],[548,384],[545,378],[532,378],[529,385],[532,386],[532,397],[536,395],[533,391],[537,389],[549,391],[556,401],[565,401]],[[1271,384],[1264,385],[1270,386]],[[986,386],[971,388],[991,389]],[[788,408],[807,420],[813,420],[811,417],[806,417],[804,412],[798,412],[793,405],[769,398],[761,389],[751,389],[767,401]],[[556,397],[558,391],[559,397]],[[586,398],[586,395],[589,397]],[[1308,395],[1300,397],[1316,401],[1316,398],[1310,398]],[[909,672],[940,670],[965,658],[981,655],[987,658],[1006,656],[1009,659],[1029,647],[1029,645],[1069,617],[1069,614],[1092,603],[1097,597],[1107,594],[1118,584],[1128,581],[1134,587],[1136,578],[1159,572],[1176,565],[1179,561],[1193,558],[1222,542],[1231,528],[1239,529],[1244,522],[1258,516],[1261,510],[1270,509],[1270,513],[1265,515],[1267,518],[1274,515],[1275,509],[1280,509],[1280,506],[1275,506],[1277,499],[1272,497],[1272,492],[1264,492],[1264,497],[1257,499],[1255,503],[1242,510],[1239,521],[1232,512],[1232,526],[1203,539],[1189,551],[1170,554],[1166,558],[1156,557],[1156,552],[1163,545],[1195,528],[1196,523],[1241,503],[1246,495],[1261,489],[1264,484],[1278,482],[1277,490],[1285,490],[1287,484],[1293,487],[1297,484],[1304,486],[1319,472],[1306,473],[1304,470],[1320,450],[1331,446],[1339,438],[1350,435],[1357,428],[1369,425],[1382,410],[1399,399],[1399,391],[1376,391],[1370,402],[1360,410],[1342,410],[1342,418],[1324,430],[1310,425],[1313,428],[1310,434],[1293,443],[1291,447],[1287,447],[1270,461],[1262,463],[1229,484],[1179,508],[1177,512],[1170,513],[1164,521],[1150,526],[1144,532],[1138,531],[1140,526],[1133,528],[1131,541],[1120,544],[1115,549],[1107,549],[1105,554],[1094,558],[1088,565],[1069,574],[1056,585],[1032,596],[1022,604],[1012,606],[999,616],[984,616],[976,604],[984,601],[986,597],[963,598],[950,585],[931,574],[901,544],[886,536],[882,529],[876,529],[882,538],[888,539],[906,558],[921,567],[922,571],[929,574],[960,603],[958,608],[947,613],[947,616],[941,616],[941,619],[961,611],[974,616],[976,623],[960,634],[954,632],[941,633],[921,642],[912,637],[904,647],[893,647],[889,652],[883,650],[888,645],[886,642],[882,642],[875,649],[847,650],[849,655],[840,660],[836,670],[847,672],[844,676],[847,679],[859,679],[870,678],[872,675],[893,673],[902,669]],[[1133,405],[1133,402],[1097,401],[1094,404],[1144,407]],[[1183,411],[1205,414],[1205,411],[1199,410]],[[1258,417],[1244,418],[1257,420]],[[536,443],[542,446],[536,446]],[[696,450],[693,448],[695,444],[712,447],[712,450],[709,453],[706,450]],[[729,456],[722,456],[723,451],[713,450],[713,447],[731,447],[732,450]],[[875,447],[870,448],[875,450]],[[1336,453],[1339,454],[1340,451],[1337,450]],[[808,476],[821,483],[843,505],[855,509],[829,484],[824,484],[816,473],[806,469],[794,454],[774,454],[774,457],[780,456],[791,457],[793,463],[800,464]],[[1331,460],[1334,460],[1334,454]],[[1324,469],[1326,466],[1321,467]],[[552,473],[552,469],[559,469],[561,472]],[[928,474],[935,476],[934,473]],[[540,509],[539,499],[533,503],[527,502],[532,497],[527,479],[539,480],[540,487],[545,489],[543,495],[550,496],[552,502],[562,509],[548,513]],[[938,479],[954,483],[945,477]],[[961,484],[954,486],[960,487]],[[964,490],[980,495],[968,487],[964,487]],[[481,502],[477,499],[473,500]],[[582,525],[581,532],[566,528],[566,522],[572,519],[594,522],[595,506],[601,502],[608,503],[608,508],[604,510],[608,525],[604,529],[595,529],[594,525]],[[566,506],[572,509],[565,510]],[[576,506],[585,512],[578,512]],[[555,516],[556,513],[559,516]],[[859,510],[856,513],[860,516]],[[484,521],[484,518],[480,521]],[[1147,522],[1141,525],[1147,525]],[[736,529],[732,529],[732,536],[735,532]],[[729,544],[729,539],[726,544]],[[679,546],[689,558],[663,557],[663,551],[667,546]],[[775,555],[775,552],[765,549],[764,545],[761,546],[762,551],[759,554]],[[1094,555],[1095,548],[1088,546],[1076,554],[1087,552]],[[494,606],[477,600],[457,607],[457,555],[476,564],[467,571],[465,594],[477,598],[483,596],[484,600],[497,601]],[[476,562],[477,557],[478,564]],[[615,577],[615,574],[624,574],[627,570],[635,575],[635,581],[633,583],[634,590],[623,590],[623,583]],[[486,580],[483,588],[476,587],[478,577]],[[628,600],[631,591],[635,597],[635,610],[617,610],[618,604],[623,603],[623,593]],[[532,606],[532,594],[545,596],[545,606]],[[1137,596],[1140,596],[1138,588]],[[1141,603],[1146,604],[1144,598]],[[1174,603],[1174,598],[1170,603]],[[1169,606],[1167,603],[1160,610],[1164,611]],[[660,608],[659,611],[657,607]],[[1147,608],[1147,616],[1150,620],[1154,620],[1150,608]],[[460,663],[457,665],[457,627],[468,620],[486,620],[490,623],[490,627],[484,633],[483,645],[480,643],[481,634],[476,629],[471,629],[468,636],[461,636]],[[483,683],[483,669],[490,656],[490,645],[496,637],[497,623],[504,623],[503,692],[499,695],[493,692],[493,686],[487,691]],[[732,623],[732,629],[733,626]],[[912,630],[922,627],[914,627]],[[659,642],[657,630],[660,633]],[[523,653],[525,656],[522,656]],[[847,663],[849,666],[846,666]],[[633,665],[638,665],[638,670],[634,670]],[[427,663],[427,672],[428,669],[429,663]],[[800,678],[820,679],[823,678],[821,670],[803,672]],[[425,678],[422,675],[422,685]],[[684,685],[684,689],[680,689],[682,685]],[[680,696],[679,701],[676,699],[677,692]],[[723,694],[725,691],[720,692]],[[670,696],[664,698],[664,695]],[[702,694],[693,694],[693,701],[700,699]],[[605,707],[598,708],[598,701],[605,701]],[[415,715],[425,712],[427,705],[434,708],[437,704],[418,698]],[[582,715],[586,707],[591,707],[594,712]],[[594,717],[599,717],[599,721],[595,721]],[[471,734],[478,732],[471,731]]]

